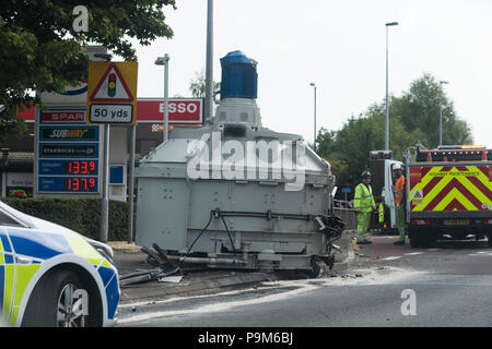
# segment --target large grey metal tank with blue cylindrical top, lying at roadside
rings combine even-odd
[[[211,267],[316,270],[332,263],[330,165],[302,136],[261,125],[257,63],[221,59],[221,100],[201,128],[176,127],[137,169],[137,244]]]

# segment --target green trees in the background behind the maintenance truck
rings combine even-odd
[[[453,103],[429,74],[415,80],[402,97],[391,97],[389,109],[389,147],[402,159],[403,151],[418,142],[426,147],[438,143],[440,98],[443,103],[443,143],[471,142],[469,125],[457,118]],[[385,146],[385,104],[370,106],[364,116],[351,117],[339,131],[321,128],[317,153],[332,166],[340,184],[355,185],[370,166],[370,152]]]

